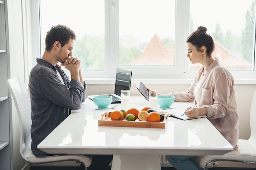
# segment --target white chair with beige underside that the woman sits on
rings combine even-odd
[[[252,99],[250,111],[250,127],[251,136],[248,140],[238,139],[238,149],[232,150],[224,155],[205,155],[197,157],[202,168],[206,168],[207,164],[216,161],[235,161],[244,163],[256,162],[256,90]]]

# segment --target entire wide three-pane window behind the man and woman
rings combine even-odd
[[[132,71],[133,78],[193,78],[199,65],[186,57],[186,38],[200,25],[216,42],[214,56],[235,78],[256,77],[255,0],[38,2],[42,53],[51,26],[69,26],[86,78],[113,78],[116,68]]]

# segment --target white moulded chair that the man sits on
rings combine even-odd
[[[30,98],[25,88],[25,84],[20,82],[18,77],[8,79],[7,84],[13,96],[13,100],[18,112],[20,123],[20,154],[26,161],[30,163],[51,163],[60,161],[76,161],[83,163],[85,170],[92,163],[92,157],[86,155],[54,155],[36,157],[31,152],[31,104]]]

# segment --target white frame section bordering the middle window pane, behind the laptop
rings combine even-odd
[[[132,71],[132,77],[137,78],[178,78],[181,75],[184,76],[184,72],[187,73],[187,68],[185,66],[188,64],[186,57],[186,40],[187,35],[189,35],[189,4],[186,3],[187,0],[177,0],[176,1],[176,16],[175,20],[179,18],[186,18],[183,22],[177,22],[175,26],[175,56],[184,56],[184,57],[175,57],[175,66],[118,66],[118,57],[119,57],[119,33],[118,33],[118,18],[115,14],[115,11],[112,9],[112,5],[115,5],[115,9],[118,13],[118,0],[110,1],[110,53],[112,54],[111,63],[115,63],[111,68],[122,68]],[[177,13],[177,11],[182,11]],[[112,17],[112,18],[111,18]],[[106,22],[108,22],[106,20]],[[178,28],[187,28],[187,29],[178,29]],[[111,70],[111,73],[115,74],[115,69]],[[180,73],[176,75],[176,73]],[[195,73],[192,73],[195,75]],[[187,74],[187,76],[189,76]],[[190,76],[189,76],[190,77]]]

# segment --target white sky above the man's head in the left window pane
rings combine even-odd
[[[41,0],[41,6],[43,36],[56,24],[70,27],[78,38],[104,34],[104,0]]]

